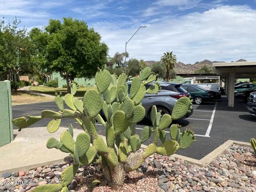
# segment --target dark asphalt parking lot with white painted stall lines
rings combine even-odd
[[[197,139],[188,149],[179,150],[178,154],[180,155],[201,159],[229,139],[249,142],[251,137],[256,137],[256,117],[247,112],[243,102],[235,100],[235,107],[230,108],[227,107],[227,99],[224,96],[218,102],[205,102],[202,105],[193,105],[193,108],[194,113],[189,118],[174,122],[182,126],[181,131],[186,128],[193,130]],[[54,102],[14,106],[13,118],[39,115],[44,109],[58,110]],[[46,126],[48,122],[49,119],[43,119],[31,127]],[[63,119],[61,126],[67,127],[69,123],[72,123],[75,128],[79,128],[72,119]],[[143,120],[137,124],[137,134],[140,135],[145,125],[150,125],[150,122]],[[105,134],[105,129],[98,123],[97,129],[100,134]],[[166,133],[167,139],[170,138],[167,129]],[[148,145],[149,143],[151,140],[144,144]]]

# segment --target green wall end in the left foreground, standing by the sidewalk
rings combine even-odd
[[[11,82],[0,82],[0,146],[13,140]]]

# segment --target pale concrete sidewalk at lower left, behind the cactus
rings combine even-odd
[[[50,137],[60,140],[67,128],[60,127],[55,133],[49,133],[46,127],[34,127],[13,130],[14,140],[0,147],[0,175],[4,172],[28,171],[37,166],[65,162],[69,155],[55,148],[48,149],[46,142]],[[74,138],[83,130],[74,129]]]

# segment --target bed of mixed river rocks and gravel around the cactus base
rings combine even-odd
[[[30,191],[38,185],[59,183],[61,172],[70,164],[71,161],[60,165],[37,167],[28,172],[6,172],[3,174],[5,179],[0,178],[0,191],[23,192]],[[95,179],[101,182],[95,182]],[[91,191],[93,185],[94,192],[111,191],[101,177],[99,165],[79,168],[68,188],[71,191]],[[249,146],[233,145],[210,165],[204,167],[191,165],[172,156],[151,155],[137,171],[126,175],[122,191],[254,192],[255,188],[256,158],[253,156],[253,149]]]

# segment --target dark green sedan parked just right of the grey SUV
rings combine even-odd
[[[215,99],[221,99],[221,94],[219,92],[205,90],[198,85],[182,84],[181,87],[190,93],[191,98],[197,105],[201,104],[203,101],[214,101]]]

